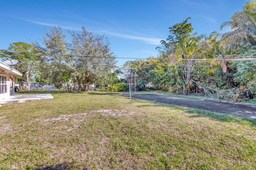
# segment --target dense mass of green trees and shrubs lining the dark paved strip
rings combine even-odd
[[[246,3],[221,25],[231,31],[210,36],[193,33],[189,19],[169,28],[158,57],[125,63],[138,74],[137,90],[201,93],[242,101],[256,95],[255,1]]]

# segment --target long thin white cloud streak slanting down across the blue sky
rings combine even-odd
[[[67,25],[61,25],[61,24],[55,24],[55,23],[49,23],[49,22],[41,22],[41,21],[33,21],[33,20],[25,20],[25,19],[21,19],[21,20],[27,21],[27,22],[30,22],[30,23],[34,23],[34,24],[37,24],[37,25],[48,26],[48,27],[60,26],[62,29],[66,29],[66,30],[75,30],[75,31],[81,31],[82,30],[81,28],[78,28],[78,27],[70,27],[70,26],[67,26]],[[104,33],[106,35],[115,36],[115,37],[119,37],[119,38],[139,40],[139,41],[142,41],[144,43],[153,44],[153,45],[159,45],[160,44],[159,42],[162,40],[161,38],[149,38],[149,37],[127,35],[127,34],[117,33],[117,32],[108,31],[108,30],[90,30],[90,31],[97,32],[97,33]]]

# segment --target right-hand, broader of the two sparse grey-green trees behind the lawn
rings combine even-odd
[[[84,84],[85,91],[89,83],[97,83],[106,79],[115,67],[115,57],[110,51],[109,43],[103,36],[93,35],[84,27],[81,33],[71,32],[73,37],[69,60],[69,69],[78,83],[78,90]]]

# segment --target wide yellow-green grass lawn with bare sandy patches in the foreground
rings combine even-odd
[[[0,107],[0,169],[256,169],[250,121],[107,93],[43,92],[54,99]]]

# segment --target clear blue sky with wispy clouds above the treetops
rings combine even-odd
[[[44,30],[61,25],[68,30],[86,29],[105,34],[119,57],[157,56],[159,40],[168,28],[188,18],[194,31],[220,31],[220,24],[242,9],[246,0],[123,0],[123,1],[1,1],[0,49],[17,41],[42,41]],[[118,65],[127,60],[118,60]]]

